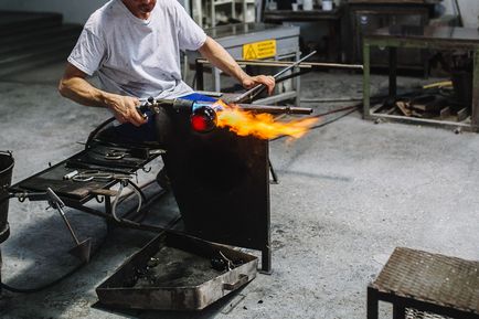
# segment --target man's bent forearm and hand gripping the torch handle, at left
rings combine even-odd
[[[84,72],[67,63],[65,73],[60,81],[60,94],[86,106],[107,107],[111,109],[119,123],[129,121],[140,126],[147,121],[136,109],[140,105],[138,98],[104,92],[94,87],[85,78]]]

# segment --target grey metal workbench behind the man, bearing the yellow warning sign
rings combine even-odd
[[[243,59],[243,47],[245,44],[267,40],[276,40],[276,54],[268,59],[298,60],[300,56],[299,26],[266,23],[241,23],[205,29],[205,32],[217,41],[235,60]],[[189,62],[193,63],[196,57],[199,57],[196,52],[189,52]],[[213,67],[213,89],[215,92],[222,92],[220,75],[221,71]],[[279,100],[296,98],[297,105],[299,105],[299,96],[297,94],[299,88],[299,77],[296,77],[291,91],[279,93],[266,99],[257,100],[256,103],[273,104]]]

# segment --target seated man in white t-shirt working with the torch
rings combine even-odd
[[[58,91],[83,105],[107,107],[121,124],[147,119],[140,98],[184,97],[193,91],[181,81],[180,50],[198,50],[245,88],[258,84],[272,93],[272,76],[249,76],[194,23],[177,0],[110,0],[85,24]],[[86,81],[97,72],[102,89]]]

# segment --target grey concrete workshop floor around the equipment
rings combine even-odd
[[[0,150],[14,153],[13,181],[81,150],[75,142],[107,116],[60,97],[61,72],[58,64],[1,79]],[[386,87],[385,77],[372,79],[374,92]],[[302,79],[302,98],[361,96],[361,88],[360,75],[315,73]],[[333,107],[311,106],[317,113]],[[0,317],[365,318],[366,286],[394,247],[479,259],[478,153],[477,134],[374,125],[354,113],[297,141],[270,143],[280,179],[270,188],[273,275],[198,313],[108,310],[95,287],[152,237],[116,230],[87,266],[58,285],[31,295],[3,291]],[[163,201],[163,210],[177,210],[171,196]],[[11,286],[47,283],[76,263],[66,255],[71,238],[60,216],[44,209],[11,202],[12,234],[1,246],[2,279]],[[96,243],[105,236],[102,220],[68,214],[83,236]],[[383,318],[388,310],[382,308]]]

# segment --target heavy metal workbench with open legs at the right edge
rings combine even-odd
[[[465,120],[439,120],[427,118],[414,118],[406,116],[375,113],[370,102],[370,50],[372,46],[387,47],[390,54],[390,98],[396,97],[396,61],[397,47],[437,49],[437,50],[466,50],[473,52],[472,67],[472,105],[471,115]],[[430,124],[448,127],[460,127],[466,130],[479,129],[479,30],[450,26],[425,28],[384,28],[369,34],[363,42],[364,56],[364,118],[384,118],[413,124]]]

